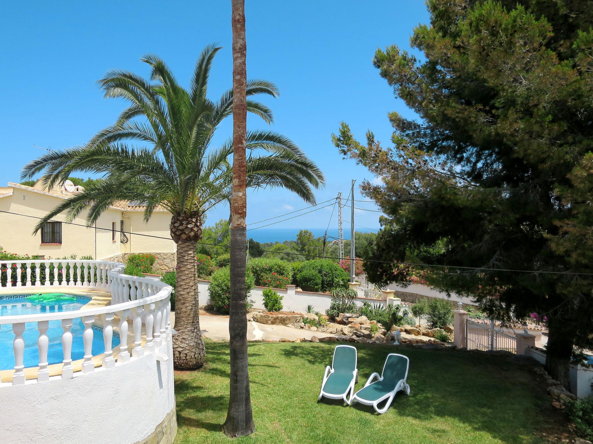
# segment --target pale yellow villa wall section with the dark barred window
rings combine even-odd
[[[53,220],[62,221],[62,244],[42,245],[41,233],[32,234],[33,229],[39,221],[56,205],[63,202],[63,199],[51,195],[40,194],[25,189],[14,188],[13,194],[0,198],[0,210],[10,211],[17,214],[0,213],[0,246],[8,252],[28,255],[43,255],[46,258],[63,258],[64,256],[76,255],[95,256],[95,236],[97,258],[115,255],[120,252],[119,236],[116,241],[111,240],[111,222],[116,223],[119,230],[121,211],[107,210],[97,221],[97,228],[107,230],[95,230],[94,227],[86,227],[84,211],[75,218],[74,223],[82,224],[76,226],[65,223],[65,215],[60,214]]]

